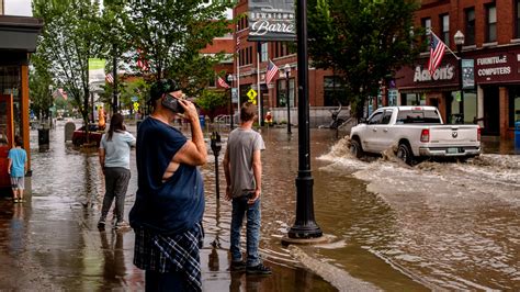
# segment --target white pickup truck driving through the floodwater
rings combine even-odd
[[[434,106],[389,106],[375,111],[350,132],[350,151],[381,154],[396,146],[396,155],[411,165],[416,158],[481,154],[478,125],[448,125]]]

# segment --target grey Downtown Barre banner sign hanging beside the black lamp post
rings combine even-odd
[[[296,40],[294,0],[249,0],[250,42]]]

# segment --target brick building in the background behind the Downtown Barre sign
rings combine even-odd
[[[297,56],[292,53],[289,44],[285,42],[248,42],[249,23],[247,13],[249,11],[248,0],[240,0],[234,8],[233,15],[235,19],[239,18],[239,22],[234,31],[234,43],[238,45],[237,57],[234,59],[234,76],[239,77],[239,96],[240,103],[247,101],[247,92],[253,88],[258,89],[258,81],[260,83],[259,96],[261,97],[262,116],[267,111],[274,113],[274,121],[286,121],[286,80],[279,74],[272,79],[271,83],[265,85],[265,72],[269,59],[271,59],[279,68],[285,65],[291,66],[291,76],[289,79],[289,101],[292,108],[291,122],[297,122]],[[257,53],[260,53],[257,55]],[[260,65],[257,66],[257,56],[260,57]],[[259,68],[259,69],[258,69]],[[321,106],[337,106],[334,94],[337,94],[341,89],[339,82],[335,82],[331,71],[317,70],[309,67],[308,71],[309,85],[308,97],[310,102],[310,123],[316,121],[316,108]],[[257,78],[259,80],[257,80]],[[338,80],[338,79],[336,79]],[[328,112],[327,112],[328,113]],[[330,114],[329,114],[330,115]],[[330,116],[327,116],[330,120]],[[314,122],[314,124],[319,122]]]

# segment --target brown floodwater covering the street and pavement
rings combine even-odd
[[[465,164],[408,167],[392,155],[358,160],[348,154],[347,139],[336,139],[334,131],[313,130],[316,222],[331,239],[284,247],[281,238],[294,222],[298,167],[297,133],[285,132],[262,131],[267,150],[260,247],[274,270],[269,280],[235,278],[226,271],[230,204],[224,200],[224,173],[219,165],[217,200],[213,155],[202,168],[207,198],[205,290],[520,288],[520,156],[509,148]],[[97,154],[66,146],[63,124],[50,133],[50,151],[38,153],[37,134],[32,135],[33,198],[23,207],[9,202],[13,211],[0,213],[0,262],[24,272],[22,288],[142,289],[143,273],[132,265],[133,233],[95,228],[104,192]],[[126,213],[136,190],[134,157],[132,162]],[[1,204],[3,209],[8,202]],[[2,268],[0,276],[10,272]]]

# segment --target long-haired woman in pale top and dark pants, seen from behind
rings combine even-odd
[[[100,142],[99,157],[104,173],[105,193],[98,228],[104,228],[106,215],[115,198],[114,213],[117,218],[115,228],[128,228],[124,221],[125,198],[131,179],[129,154],[131,147],[135,146],[135,137],[126,132],[124,117],[121,113],[114,113],[110,121],[109,132],[103,134]]]

